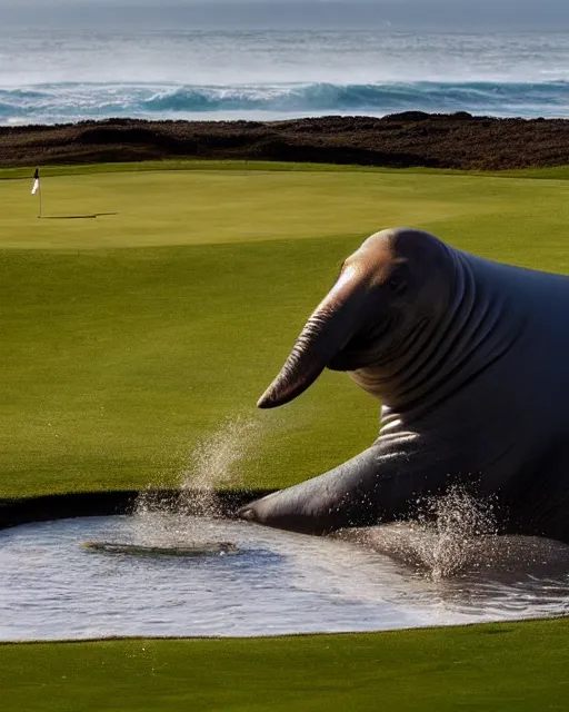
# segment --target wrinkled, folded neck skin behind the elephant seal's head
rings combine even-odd
[[[380,345],[369,366],[349,372],[382,402],[381,435],[397,429],[402,417],[410,422],[432,412],[498,360],[523,328],[508,290],[479,268],[489,263],[447,249],[450,269],[443,313],[418,315],[415,324]]]

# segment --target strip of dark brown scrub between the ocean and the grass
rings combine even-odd
[[[107,119],[0,127],[0,165],[166,158],[499,170],[569,165],[569,120],[408,111],[288,121]]]

